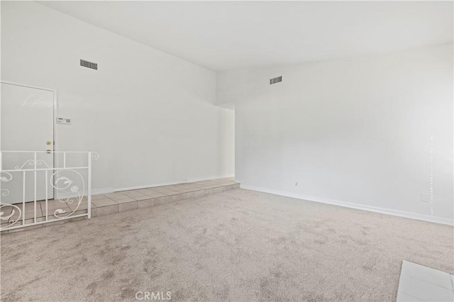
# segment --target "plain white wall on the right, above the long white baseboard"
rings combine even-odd
[[[223,72],[217,89],[243,187],[452,223],[452,44]]]

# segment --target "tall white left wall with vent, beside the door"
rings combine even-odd
[[[35,2],[2,1],[1,79],[57,89],[57,115],[72,118],[57,126],[57,150],[99,152],[95,192],[230,173],[219,164],[216,74],[190,62]]]

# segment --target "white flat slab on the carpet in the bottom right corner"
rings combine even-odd
[[[454,301],[454,276],[403,261],[397,301]]]

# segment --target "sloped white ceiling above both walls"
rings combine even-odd
[[[214,71],[453,43],[453,1],[40,1]]]

